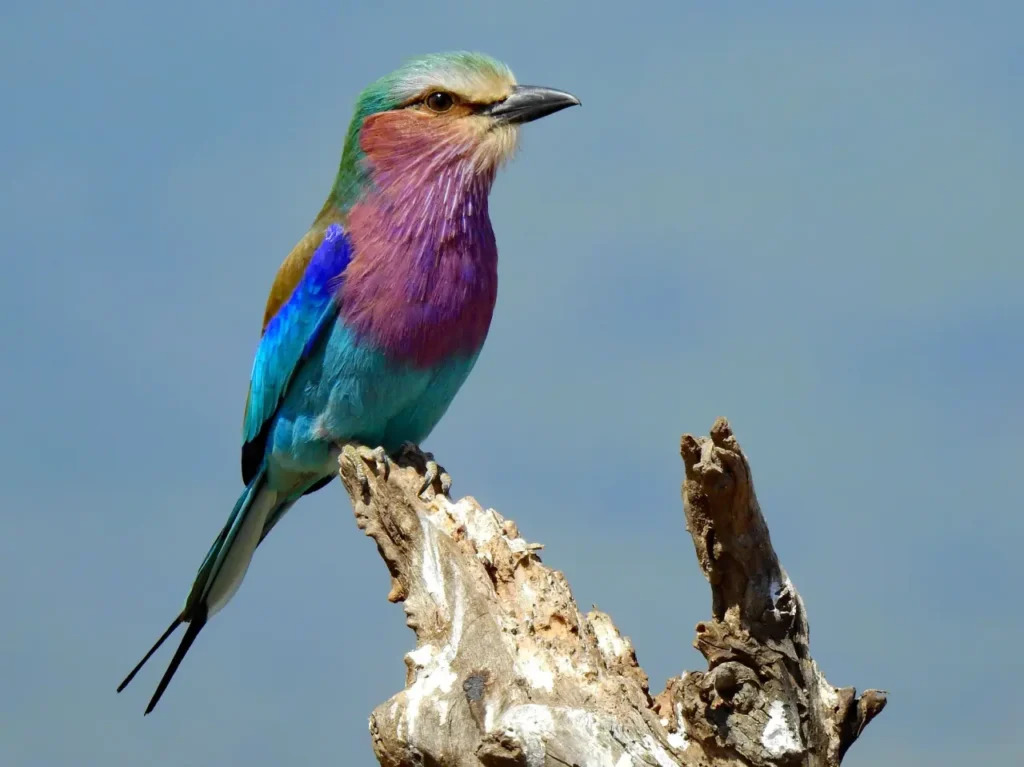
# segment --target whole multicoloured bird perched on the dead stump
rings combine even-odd
[[[118,686],[185,632],[145,715],[286,512],[353,450],[387,473],[473,369],[498,295],[488,196],[520,126],[580,99],[483,53],[407,60],[359,93],[333,186],[273,281],[243,419],[245,489],[181,611]],[[424,489],[446,474],[429,454]],[[360,469],[361,471],[361,469]],[[421,493],[423,491],[421,489]]]

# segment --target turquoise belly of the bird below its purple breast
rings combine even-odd
[[[271,476],[325,476],[332,449],[357,441],[389,453],[433,430],[477,353],[418,369],[357,343],[340,322],[300,367],[274,417],[267,444]]]

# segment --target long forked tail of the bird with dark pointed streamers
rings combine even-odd
[[[226,524],[207,552],[203,564],[200,565],[188,598],[185,600],[184,609],[118,687],[118,692],[121,692],[174,630],[180,624],[187,623],[188,628],[167,671],[164,672],[153,699],[150,700],[146,714],[160,701],[164,690],[167,689],[178,666],[207,621],[227,603],[245,578],[249,561],[260,540],[259,535],[278,507],[278,494],[266,487],[265,476],[266,471],[263,467],[234,504]]]

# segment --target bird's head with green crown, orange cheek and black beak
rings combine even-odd
[[[515,152],[519,126],[580,100],[518,85],[480,53],[434,53],[408,61],[359,94],[334,197],[342,207],[366,188],[429,182],[458,172],[493,178]]]

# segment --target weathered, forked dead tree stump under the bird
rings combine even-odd
[[[370,718],[385,767],[839,765],[886,695],[830,685],[729,424],[682,438],[683,505],[712,617],[708,670],[652,696],[630,640],[584,613],[513,521],[452,501],[429,456],[346,448],[341,477],[417,647]],[[429,486],[423,487],[425,478]],[[422,488],[422,493],[421,493]]]

